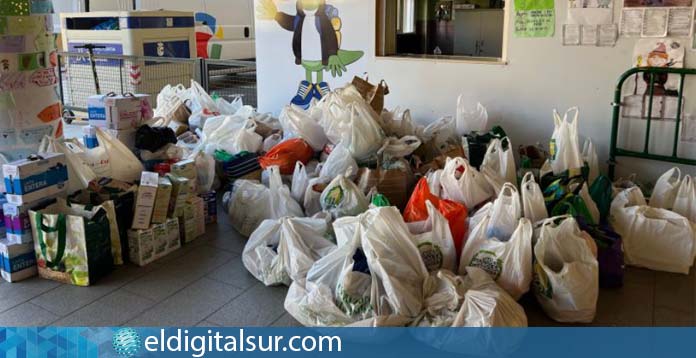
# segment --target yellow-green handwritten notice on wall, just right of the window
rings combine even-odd
[[[556,30],[554,0],[515,0],[515,37],[553,37]]]

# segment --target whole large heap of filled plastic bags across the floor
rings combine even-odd
[[[168,87],[157,113],[171,118],[153,128],[177,141],[139,152],[191,158],[200,185],[227,191],[244,266],[289,286],[303,325],[526,326],[525,295],[586,323],[625,265],[691,267],[692,178],[669,171],[648,205],[634,181],[602,175],[577,108],[554,111],[548,149],[519,146],[516,161],[482,104],[460,96],[455,115],[423,126],[408,109],[376,112],[364,82],[279,118]]]

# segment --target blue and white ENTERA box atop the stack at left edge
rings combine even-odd
[[[8,203],[22,205],[65,192],[68,167],[65,155],[46,153],[2,166]]]

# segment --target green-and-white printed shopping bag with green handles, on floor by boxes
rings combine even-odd
[[[72,208],[58,200],[30,211],[30,220],[41,277],[89,286],[111,271],[111,224],[104,208]]]

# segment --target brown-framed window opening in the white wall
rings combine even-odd
[[[377,55],[503,59],[505,0],[378,0]]]

